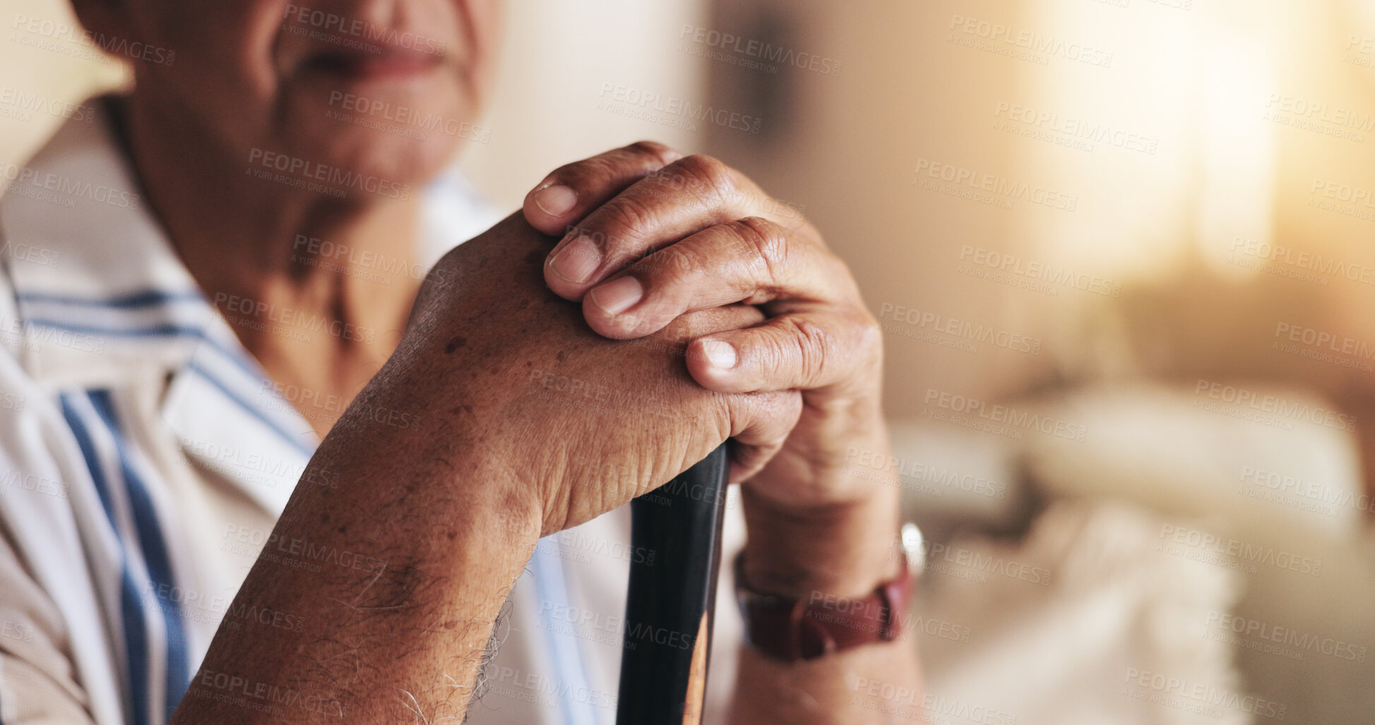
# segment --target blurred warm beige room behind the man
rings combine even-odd
[[[22,164],[124,73],[0,7]],[[854,465],[927,535],[908,719],[1372,722],[1372,8],[522,0],[461,162],[513,209],[663,140],[851,264],[898,450]]]

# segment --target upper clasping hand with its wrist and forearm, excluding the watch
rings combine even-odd
[[[554,171],[525,197],[524,212],[562,237],[544,266],[549,288],[580,300],[587,323],[606,337],[657,334],[718,305],[763,314],[758,325],[696,336],[688,347],[688,370],[705,389],[803,396],[778,455],[752,477],[748,466],[733,472],[745,481],[748,586],[854,597],[898,574],[898,488],[847,466],[854,450],[888,458],[881,336],[811,224],[725,164],[654,143]],[[744,648],[732,718],[896,721],[861,704],[857,678],[918,692],[914,642],[798,663]]]

